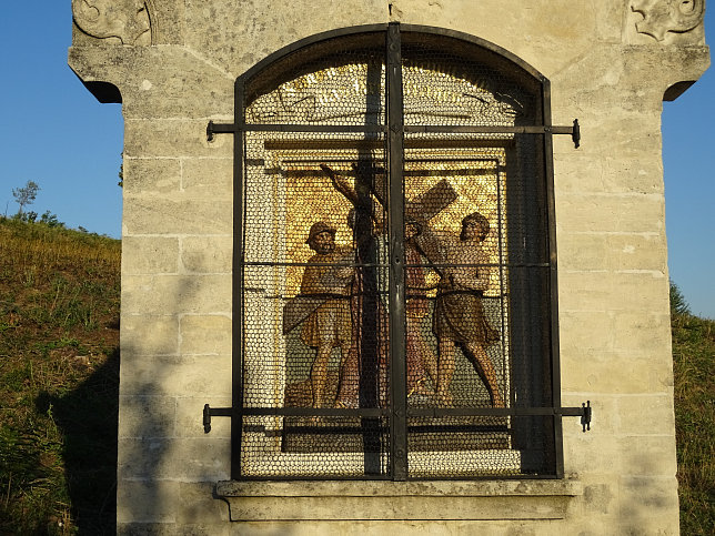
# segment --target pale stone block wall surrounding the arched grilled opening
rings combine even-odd
[[[73,0],[69,63],[125,121],[119,532],[677,534],[661,112],[708,65],[704,3]],[[578,150],[554,142],[560,358],[593,431],[565,422],[564,481],[242,484],[229,508],[230,423],[207,435],[201,411],[231,405],[233,151],[207,123],[268,54],[391,20],[506,49],[551,81],[554,124],[581,122]]]

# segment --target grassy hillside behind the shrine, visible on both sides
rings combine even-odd
[[[119,265],[119,241],[0,219],[0,534],[114,534]],[[715,322],[672,303],[681,525],[711,535]]]

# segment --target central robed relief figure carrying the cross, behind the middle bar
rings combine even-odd
[[[333,186],[342,193],[354,206],[349,224],[353,229],[358,251],[358,263],[379,264],[375,253],[386,249],[384,230],[384,188],[376,184],[373,170],[353,164],[355,186],[330,166],[321,164],[321,169],[331,179]],[[426,296],[426,282],[423,263],[439,263],[441,253],[437,239],[427,226],[427,221],[444,210],[456,199],[454,189],[446,182],[440,181],[422,195],[405,201],[405,285],[406,297],[406,372],[409,395],[433,396],[424,380],[429,377],[432,384],[437,384],[437,358],[424,340],[421,330],[422,318],[429,314],[430,306]],[[362,222],[362,223],[361,223]],[[377,255],[384,256],[382,254]],[[426,261],[425,261],[426,260]],[[384,261],[383,261],[384,262]],[[359,269],[353,283],[353,347],[341,371],[338,402],[350,405],[346,401],[355,400],[360,385],[370,382],[370,375],[364,374],[365,364],[377,364],[380,398],[383,400],[386,386],[387,371],[387,315],[385,304],[375,300],[387,289],[387,272],[384,267]],[[367,336],[371,334],[373,338]],[[365,344],[367,343],[367,344]],[[367,380],[367,382],[365,382]],[[362,387],[360,387],[362,392]]]

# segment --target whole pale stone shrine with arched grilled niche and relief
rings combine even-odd
[[[118,533],[678,534],[704,10],[72,0],[125,125]]]

